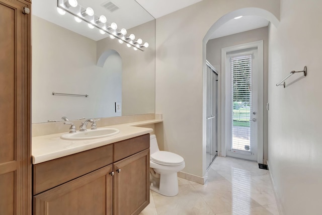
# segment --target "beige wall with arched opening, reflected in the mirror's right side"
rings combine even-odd
[[[109,37],[97,42],[97,58],[108,50],[122,58],[122,116],[154,113],[155,110],[155,21],[139,25],[128,32],[148,42],[145,51],[134,51]]]

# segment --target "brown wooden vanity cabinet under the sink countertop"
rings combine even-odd
[[[33,213],[139,214],[149,204],[149,134],[33,166]]]

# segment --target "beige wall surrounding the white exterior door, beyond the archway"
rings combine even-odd
[[[254,42],[254,41],[259,41],[263,40],[264,41],[264,160],[267,160],[267,151],[268,151],[268,146],[267,146],[267,110],[266,110],[266,103],[267,103],[267,83],[268,83],[268,27],[264,28],[259,28],[251,31],[246,31],[238,34],[233,34],[225,37],[220,37],[216,39],[209,40],[207,43],[207,60],[215,66],[218,70],[220,69],[220,64],[221,64],[221,48],[229,47],[229,46],[234,46],[234,45],[240,45],[244,43],[249,43],[249,42]],[[216,65],[219,65],[216,66]],[[221,79],[219,79],[221,81]],[[221,84],[219,83],[219,86]],[[221,100],[221,90],[219,89],[218,91],[218,101]],[[220,113],[219,113],[220,115]],[[220,125],[221,122],[218,122],[218,125]],[[219,131],[218,131],[218,149],[221,151],[221,129],[219,126]]]

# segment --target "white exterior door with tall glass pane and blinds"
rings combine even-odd
[[[262,87],[257,68],[257,49],[227,53],[226,155],[253,161],[258,160],[258,87]]]

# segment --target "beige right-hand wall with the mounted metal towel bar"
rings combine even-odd
[[[268,162],[284,214],[321,214],[322,2],[282,0],[269,30]],[[286,88],[275,84],[291,70]]]

